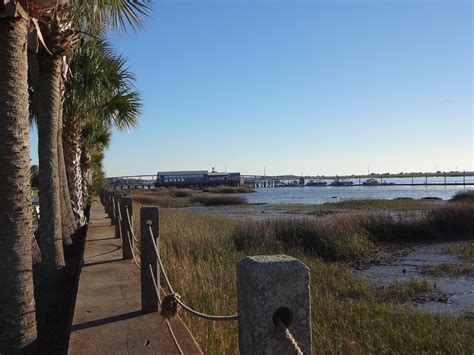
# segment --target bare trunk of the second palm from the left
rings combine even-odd
[[[59,111],[62,58],[46,53],[39,57],[38,151],[41,218],[41,265],[46,272],[65,266],[58,169]]]

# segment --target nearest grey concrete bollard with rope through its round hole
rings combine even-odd
[[[309,269],[301,261],[286,255],[243,258],[237,295],[241,354],[295,354],[281,323],[311,354]]]

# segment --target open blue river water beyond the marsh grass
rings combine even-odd
[[[410,179],[411,181],[411,179]],[[467,180],[466,180],[467,181]],[[249,203],[268,204],[320,204],[342,200],[394,199],[398,197],[438,197],[450,199],[456,192],[474,189],[474,186],[306,186],[257,188],[256,193],[246,194]]]

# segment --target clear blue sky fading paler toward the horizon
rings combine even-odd
[[[152,4],[110,36],[144,109],[108,176],[474,170],[472,1]]]

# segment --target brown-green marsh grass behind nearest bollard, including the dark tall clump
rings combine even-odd
[[[377,289],[354,276],[350,267],[324,261],[364,257],[390,238],[438,240],[472,231],[473,210],[450,208],[429,212],[418,223],[385,214],[237,221],[162,209],[161,252],[183,300],[200,311],[221,315],[236,311],[235,264],[243,256],[285,253],[302,260],[311,269],[315,353],[473,353],[472,321],[403,306],[417,293],[428,291],[423,281]],[[182,316],[206,353],[235,353],[235,322]]]

